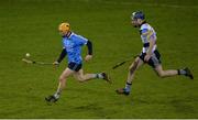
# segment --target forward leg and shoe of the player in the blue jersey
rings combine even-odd
[[[58,100],[63,89],[65,88],[67,77],[70,76],[72,74],[74,74],[74,70],[72,70],[70,68],[66,68],[62,73],[62,75],[59,76],[59,84],[58,84],[58,88],[57,88],[56,92],[53,96],[48,96],[47,98],[45,98],[46,101],[55,102]]]

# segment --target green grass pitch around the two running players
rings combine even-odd
[[[58,68],[25,65],[25,53],[54,62],[62,50],[57,25],[67,20],[94,43],[95,57],[85,63],[85,72],[107,70],[141,51],[139,31],[130,24],[135,10],[143,10],[157,32],[164,68],[188,66],[195,79],[162,79],[143,66],[132,95],[118,96],[114,89],[124,86],[125,64],[110,73],[112,85],[79,84],[70,77],[59,101],[47,106],[44,97],[56,90],[66,61]],[[197,20],[197,0],[0,1],[0,118],[198,118]]]

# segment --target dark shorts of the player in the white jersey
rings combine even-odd
[[[155,68],[157,65],[161,65],[161,54],[158,53],[157,50],[154,51],[153,55],[151,56],[151,58],[148,59],[148,62],[144,61],[146,53],[141,53],[141,55],[139,56],[144,63],[147,63],[150,66],[152,66],[153,68]]]

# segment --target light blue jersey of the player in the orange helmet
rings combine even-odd
[[[66,48],[68,63],[81,64],[81,46],[87,44],[87,39],[72,33],[68,37],[63,37],[63,45]]]

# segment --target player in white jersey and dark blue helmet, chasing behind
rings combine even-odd
[[[141,40],[143,43],[142,53],[135,58],[129,68],[128,79],[124,88],[117,89],[118,94],[129,95],[134,78],[134,73],[143,64],[148,64],[157,73],[160,77],[169,77],[176,75],[185,75],[190,79],[194,79],[194,76],[189,68],[184,69],[167,69],[164,70],[161,63],[161,54],[157,51],[156,45],[156,33],[154,29],[146,23],[145,15],[141,11],[132,13],[132,24],[134,28],[140,29]]]

